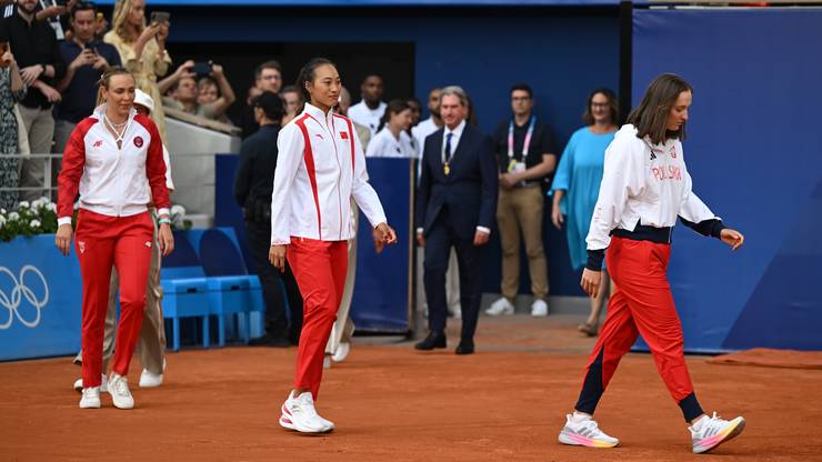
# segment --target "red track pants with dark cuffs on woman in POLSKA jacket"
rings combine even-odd
[[[611,239],[607,264],[616,291],[608,303],[605,322],[591,353],[578,411],[593,414],[620,360],[641,334],[685,420],[702,414],[685,365],[682,325],[665,277],[670,255],[669,244]]]

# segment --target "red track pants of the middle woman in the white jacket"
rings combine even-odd
[[[303,300],[294,389],[311,390],[317,400],[325,343],[337,320],[345,287],[348,241],[292,237],[287,255]]]

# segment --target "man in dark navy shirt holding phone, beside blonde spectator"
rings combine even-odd
[[[54,150],[62,153],[77,122],[94,111],[97,81],[109,67],[120,66],[117,49],[94,38],[97,7],[81,2],[71,9],[71,40],[60,42],[60,56],[68,63],[66,76],[57,83],[62,100],[57,107]]]

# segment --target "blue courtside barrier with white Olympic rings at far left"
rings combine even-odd
[[[0,360],[76,353],[81,300],[77,255],[63,257],[54,234],[0,243]]]

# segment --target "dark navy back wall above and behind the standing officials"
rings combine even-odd
[[[535,92],[535,113],[551,127],[559,152],[571,133],[582,125],[588,93],[599,87],[618,89],[615,8],[332,11],[179,9],[179,14],[173,13],[170,48],[173,52],[174,42],[213,41],[214,31],[220,31],[221,41],[237,43],[238,52],[242,52],[245,42],[411,42],[419,99],[425,101],[431,88],[461,84],[474,100],[480,128],[491,132],[510,113],[510,87],[529,82]],[[310,34],[305,32],[307,24]],[[342,78],[357,98],[357,82]],[[550,224],[550,201],[544,237],[552,294],[581,295],[579,274],[570,270],[564,232]],[[489,270],[483,279],[485,292],[500,290],[500,253],[494,232],[488,251]],[[522,275],[521,291],[528,292],[530,281],[524,265]]]

